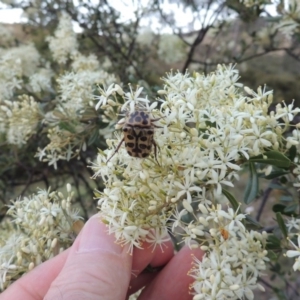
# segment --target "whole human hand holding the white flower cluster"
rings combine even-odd
[[[14,282],[0,300],[124,300],[143,286],[139,300],[192,299],[193,278],[187,273],[193,255],[201,259],[203,252],[184,247],[174,255],[171,241],[163,251],[146,243],[143,248],[128,254],[128,245],[116,244],[96,215],[71,248]],[[143,272],[148,265],[164,267],[155,273]]]

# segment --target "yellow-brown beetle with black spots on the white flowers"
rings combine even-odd
[[[151,119],[150,114],[146,111],[135,110],[127,114],[124,125],[122,126],[123,138],[119,142],[116,150],[109,160],[119,151],[123,143],[127,153],[132,157],[148,157],[154,146],[154,156],[157,161],[157,144],[154,140],[154,128],[161,128],[153,124],[161,118]],[[158,163],[159,164],[159,163]]]

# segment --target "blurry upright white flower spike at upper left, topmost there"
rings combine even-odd
[[[59,64],[65,64],[72,53],[77,52],[78,43],[73,30],[72,19],[67,13],[62,13],[54,37],[47,38],[53,59]]]

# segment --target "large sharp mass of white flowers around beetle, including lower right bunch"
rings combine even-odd
[[[186,244],[195,240],[206,246],[205,269],[201,263],[193,273],[196,293],[201,290],[211,296],[205,299],[222,299],[213,298],[221,294],[224,299],[253,299],[250,290],[258,286],[257,276],[267,260],[265,234],[248,232],[241,223],[244,215],[216,206],[224,185],[233,186],[249,158],[268,150],[285,153],[299,144],[299,135],[290,136],[289,141],[284,137],[299,109],[283,103],[268,113],[272,92],[245,88],[245,95],[238,78],[231,66],[218,66],[207,76],[171,73],[159,91],[164,96],[158,99],[160,109],[157,102],[150,105],[142,88],[124,92],[118,85],[101,89],[96,105],[107,115],[118,108],[146,110],[156,119],[157,161],[154,155],[131,157],[122,146],[114,154],[112,145],[120,145],[119,137],[107,141],[110,149],[99,153],[92,166],[94,178],[100,176],[106,186],[97,197],[109,232],[133,249],[144,240],[163,243],[168,228],[180,228]],[[126,118],[118,128],[124,124]],[[191,221],[183,222],[187,213]],[[224,259],[221,272],[227,254],[232,263]],[[195,297],[201,299],[198,294]]]

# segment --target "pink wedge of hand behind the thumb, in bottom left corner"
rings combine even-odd
[[[0,295],[0,300],[40,300],[47,293],[51,282],[57,277],[68,257],[69,250],[42,263],[14,282]]]

